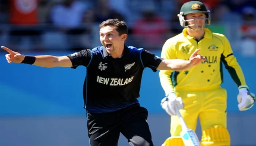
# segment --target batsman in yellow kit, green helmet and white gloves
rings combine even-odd
[[[223,34],[213,33],[210,11],[200,1],[184,3],[178,14],[183,31],[168,39],[163,45],[161,58],[189,59],[191,53],[201,49],[205,61],[181,72],[161,70],[159,77],[166,97],[162,108],[171,116],[170,134],[162,146],[184,146],[180,137],[181,126],[174,106],[180,108],[188,128],[196,130],[197,118],[202,127],[202,146],[229,146],[227,130],[227,93],[221,87],[222,63],[238,87],[238,108],[245,111],[255,102],[249,92],[244,74],[233,54],[229,40]],[[166,103],[165,103],[166,102]],[[163,104],[165,103],[165,104]]]

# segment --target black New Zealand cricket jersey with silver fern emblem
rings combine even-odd
[[[85,49],[67,55],[71,68],[87,68],[83,86],[84,108],[91,113],[113,112],[138,103],[144,68],[157,71],[162,58],[143,48],[125,46],[123,55],[114,59],[105,47]]]

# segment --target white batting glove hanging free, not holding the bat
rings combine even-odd
[[[248,86],[239,86],[239,94],[237,95],[238,108],[240,111],[246,111],[253,107],[255,102],[255,94],[249,92]]]

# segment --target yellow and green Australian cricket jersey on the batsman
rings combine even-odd
[[[180,34],[165,42],[161,58],[188,60],[196,49],[201,49],[199,54],[206,57],[206,60],[181,72],[160,70],[161,85],[166,94],[175,92],[176,89],[200,90],[219,87],[223,81],[222,62],[237,86],[246,85],[242,69],[225,35],[212,33],[210,29],[205,28],[204,38],[197,41],[186,32],[187,28],[184,28]]]

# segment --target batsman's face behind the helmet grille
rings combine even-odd
[[[206,15],[204,13],[187,14],[185,19],[193,30],[203,30],[205,27]]]

